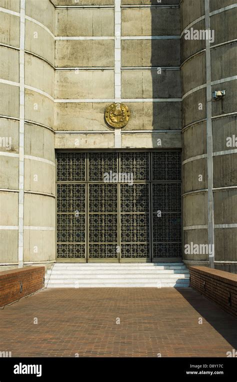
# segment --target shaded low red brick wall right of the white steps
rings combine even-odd
[[[189,267],[190,286],[237,317],[237,274],[203,266]]]

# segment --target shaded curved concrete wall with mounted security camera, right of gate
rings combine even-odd
[[[231,0],[183,0],[180,4],[183,242],[210,244],[212,230],[214,267],[233,272],[237,272],[237,150],[226,147],[226,138],[237,132],[235,7]],[[185,40],[184,30],[205,30],[208,22],[214,31],[209,47],[205,40]],[[206,103],[208,81],[211,92],[225,90],[222,101]],[[187,265],[212,261],[206,253],[184,253],[184,260]]]

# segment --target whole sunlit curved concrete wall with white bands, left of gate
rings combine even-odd
[[[55,258],[54,7],[48,0],[1,0],[0,7],[0,264],[50,262]],[[2,138],[10,139],[10,148]]]

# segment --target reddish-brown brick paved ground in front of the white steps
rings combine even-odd
[[[0,310],[0,351],[12,356],[206,357],[233,348],[237,320],[191,288],[45,289]]]

